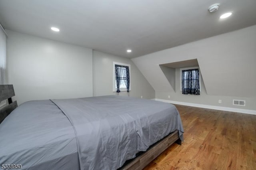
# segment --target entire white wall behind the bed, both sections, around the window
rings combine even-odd
[[[18,105],[41,99],[66,99],[113,92],[113,61],[131,65],[131,91],[119,95],[154,99],[155,91],[129,58],[7,30],[9,84]]]

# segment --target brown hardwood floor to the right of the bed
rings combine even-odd
[[[256,115],[176,105],[184,127],[144,170],[256,170]]]

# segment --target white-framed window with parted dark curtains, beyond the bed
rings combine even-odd
[[[113,62],[113,91],[131,90],[130,88],[130,64]]]

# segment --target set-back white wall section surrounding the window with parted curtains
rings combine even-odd
[[[148,83],[140,70],[129,58],[118,57],[99,51],[93,51],[93,95],[117,95],[113,92],[113,61],[130,64],[130,86],[131,91],[121,91],[118,95],[125,95],[145,99],[154,99],[155,91]]]

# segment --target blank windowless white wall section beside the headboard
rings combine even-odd
[[[18,104],[92,96],[92,49],[7,30],[9,84]]]

